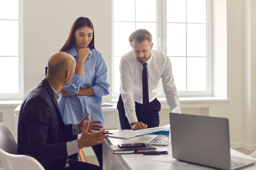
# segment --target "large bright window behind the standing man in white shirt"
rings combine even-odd
[[[153,49],[170,57],[180,97],[212,96],[210,0],[114,0],[113,6],[113,97],[119,95],[120,58],[131,50],[128,37],[140,28],[152,33]]]

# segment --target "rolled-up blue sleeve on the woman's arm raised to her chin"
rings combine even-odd
[[[72,83],[70,86],[63,86],[63,89],[69,94],[77,94],[79,92],[79,89],[84,84],[85,80],[80,75],[74,74],[71,82]]]

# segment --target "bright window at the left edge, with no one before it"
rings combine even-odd
[[[0,99],[23,98],[22,1],[0,1]]]

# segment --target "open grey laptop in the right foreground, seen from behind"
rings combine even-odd
[[[173,158],[225,170],[256,163],[230,156],[227,118],[170,113],[170,125]]]

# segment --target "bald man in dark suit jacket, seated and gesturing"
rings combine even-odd
[[[54,53],[48,61],[48,73],[40,84],[30,90],[20,108],[17,154],[36,158],[45,169],[100,169],[98,166],[69,159],[79,149],[105,142],[108,135],[103,128],[87,121],[89,114],[79,123],[65,125],[57,104],[58,92],[70,85],[74,75],[75,60],[64,52]],[[69,141],[83,132],[78,140]]]

